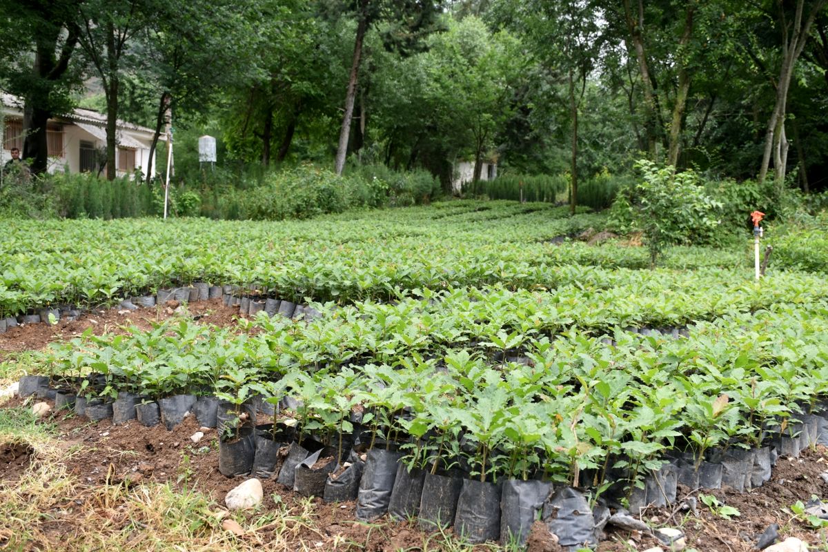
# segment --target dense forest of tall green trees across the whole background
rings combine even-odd
[[[497,161],[577,190],[645,158],[821,190],[825,5],[3,0],[0,89],[25,100],[36,172],[46,120],[86,105],[112,159],[117,118],[161,135],[171,116],[176,142],[218,137],[226,167],[383,164],[446,186],[456,161],[475,180]]]

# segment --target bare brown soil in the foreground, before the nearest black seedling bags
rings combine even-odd
[[[15,408],[23,404],[24,400],[15,398],[0,408]],[[206,434],[199,444],[190,443],[190,435],[199,429],[192,417],[172,431],[167,431],[162,425],[145,428],[136,422],[112,425],[109,421],[103,421],[95,424],[68,414],[56,414],[51,421],[57,426],[60,449],[67,453],[62,462],[70,477],[77,478],[84,487],[101,487],[108,483],[137,488],[145,484],[171,482],[179,490],[191,488],[204,492],[216,502],[214,509],[219,509],[219,505],[223,506],[224,495],[245,479],[225,478],[219,473],[214,430]],[[25,458],[31,456],[37,462],[37,455],[32,450],[26,452],[19,444],[0,443],[0,452],[12,446],[16,447],[17,454],[0,454],[0,488],[17,484],[26,473]],[[203,447],[207,450],[199,452]],[[10,460],[12,456],[14,459]],[[782,526],[781,535],[797,536],[813,547],[824,546],[826,537],[822,532],[810,530],[801,521],[792,520],[784,509],[797,501],[806,502],[811,496],[828,496],[828,484],[820,477],[821,473],[828,471],[826,459],[828,450],[817,446],[816,449],[804,451],[800,458],[780,458],[771,481],[751,492],[734,492],[728,487],[710,492],[702,490],[704,494],[717,497],[720,503],[739,510],[741,516],[731,521],[715,516],[701,502],[697,506],[699,516],[693,516],[676,505],[649,508],[643,511],[641,517],[651,526],[680,527],[686,533],[688,548],[705,552],[752,550],[756,536],[771,523]],[[8,463],[10,461],[12,465]],[[274,479],[262,483],[264,499],[260,514],[272,511],[277,507],[277,502],[298,511],[306,500]],[[688,495],[698,497],[698,494],[680,487],[678,496],[681,499]],[[334,550],[335,542],[354,543],[351,548],[340,544],[336,550],[423,550],[421,545],[428,538],[416,527],[416,523],[388,521],[384,516],[375,524],[356,523],[354,502],[326,504],[320,498],[312,499],[312,502],[315,506],[313,516],[308,528],[296,535],[296,550],[301,548],[300,540],[321,542],[320,550]],[[48,534],[55,537],[70,534],[79,529],[75,524],[80,522],[64,517],[60,521],[60,530],[52,527]],[[557,546],[548,545],[549,540],[539,530],[542,526],[536,526],[538,530],[530,536],[527,550],[559,550]],[[267,531],[258,534],[258,538],[267,543]],[[57,544],[57,541],[51,543]],[[645,550],[658,543],[650,535],[611,529],[597,550],[627,551],[631,550],[630,544],[634,546],[632,550]],[[456,549],[436,546],[430,550]],[[493,550],[493,545],[479,545],[476,550]]]

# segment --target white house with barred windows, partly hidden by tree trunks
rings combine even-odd
[[[8,94],[0,94],[0,124],[4,125],[0,163],[11,158],[12,147],[23,150],[22,100]],[[118,121],[118,152],[115,168],[118,175],[131,175],[139,169],[144,175],[155,174],[155,161],[149,166],[150,144],[153,131],[131,122]],[[49,142],[49,172],[98,172],[99,163],[106,161],[106,115],[90,109],[75,109],[72,113],[49,120],[46,128]],[[161,140],[166,141],[162,134]],[[159,143],[158,149],[161,149]]]

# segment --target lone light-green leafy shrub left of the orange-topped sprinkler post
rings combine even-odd
[[[650,264],[665,247],[716,242],[722,204],[710,198],[693,170],[676,174],[673,166],[659,167],[640,160],[642,180],[619,194],[610,215],[615,229],[637,228],[644,234]]]

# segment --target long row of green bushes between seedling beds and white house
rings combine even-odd
[[[383,165],[358,166],[337,176],[311,165],[263,175],[253,170],[205,170],[203,180],[171,185],[171,217],[219,219],[309,218],[356,207],[424,204],[440,194],[440,183],[425,170],[397,172]],[[237,177],[238,176],[238,177]],[[13,178],[12,178],[13,177]],[[260,180],[259,180],[260,179]],[[140,178],[108,181],[84,173],[44,175],[8,172],[0,188],[0,214],[24,218],[121,218],[161,216],[163,185]]]

